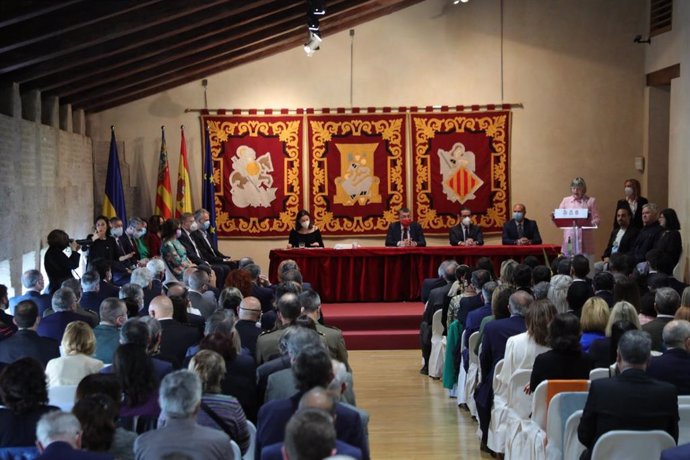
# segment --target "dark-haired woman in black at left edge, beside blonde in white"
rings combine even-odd
[[[43,366],[33,358],[21,358],[0,373],[0,447],[33,446],[36,424],[47,412],[60,410],[48,405]]]

